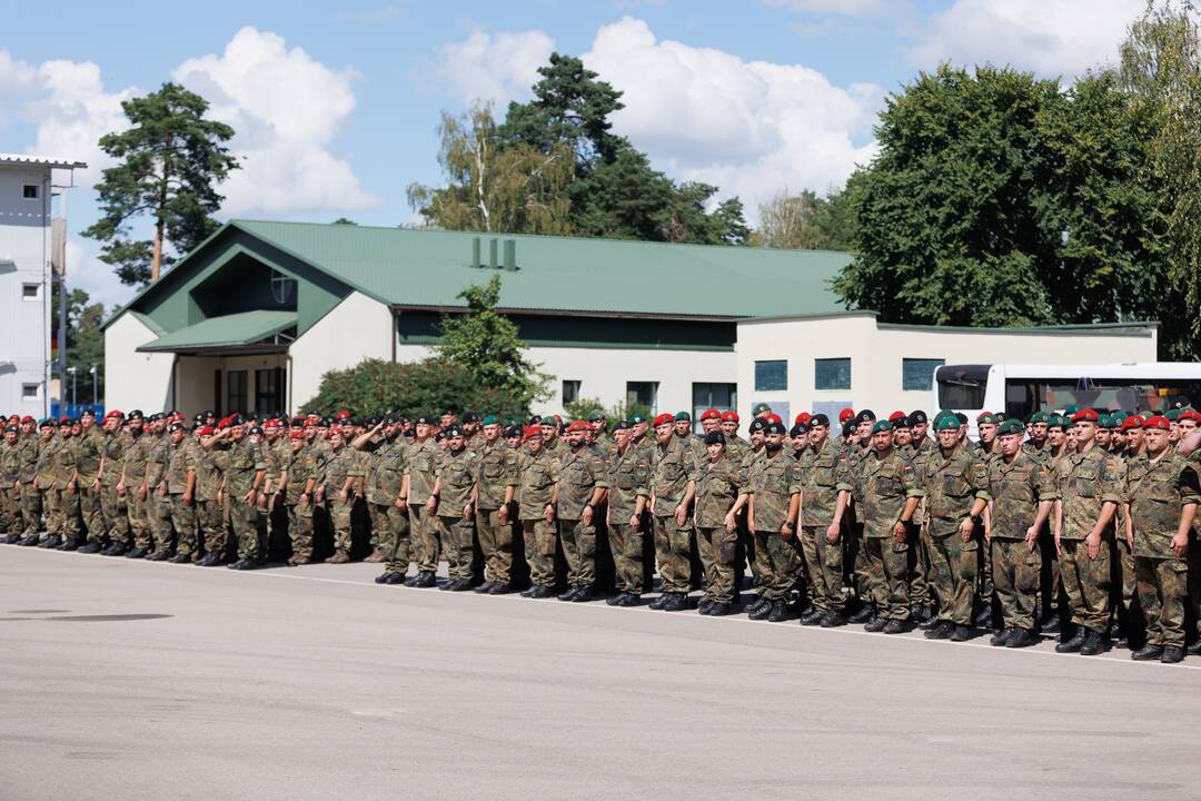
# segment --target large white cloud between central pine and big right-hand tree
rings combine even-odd
[[[628,17],[602,28],[584,61],[625,92],[617,133],[656,166],[740,195],[752,211],[785,186],[838,186],[874,153],[884,92],[873,84],[836,86],[806,66],[657,41]]]

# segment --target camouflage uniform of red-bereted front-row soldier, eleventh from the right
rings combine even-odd
[[[596,581],[597,519],[588,525],[581,520],[584,507],[593,490],[609,486],[604,459],[588,447],[568,449],[560,459],[558,491],[555,496],[558,515],[558,536],[567,557],[567,584],[591,590]]]

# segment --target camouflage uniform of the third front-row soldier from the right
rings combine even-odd
[[[1004,628],[1034,629],[1035,599],[1042,575],[1042,555],[1026,545],[1026,531],[1034,525],[1042,501],[1059,497],[1051,471],[1018,452],[1012,461],[988,464],[992,497],[992,576]]]

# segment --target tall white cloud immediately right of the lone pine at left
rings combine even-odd
[[[331,151],[354,110],[352,68],[334,71],[299,47],[243,28],[221,55],[184,61],[173,77],[233,126],[241,169],[221,185],[225,214],[270,216],[374,208],[349,163]]]

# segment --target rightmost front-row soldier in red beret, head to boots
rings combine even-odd
[[[1184,658],[1189,534],[1201,502],[1196,467],[1169,448],[1167,418],[1143,424],[1146,453],[1127,472],[1125,536],[1134,542],[1139,603],[1147,620],[1147,644],[1131,659]]]

